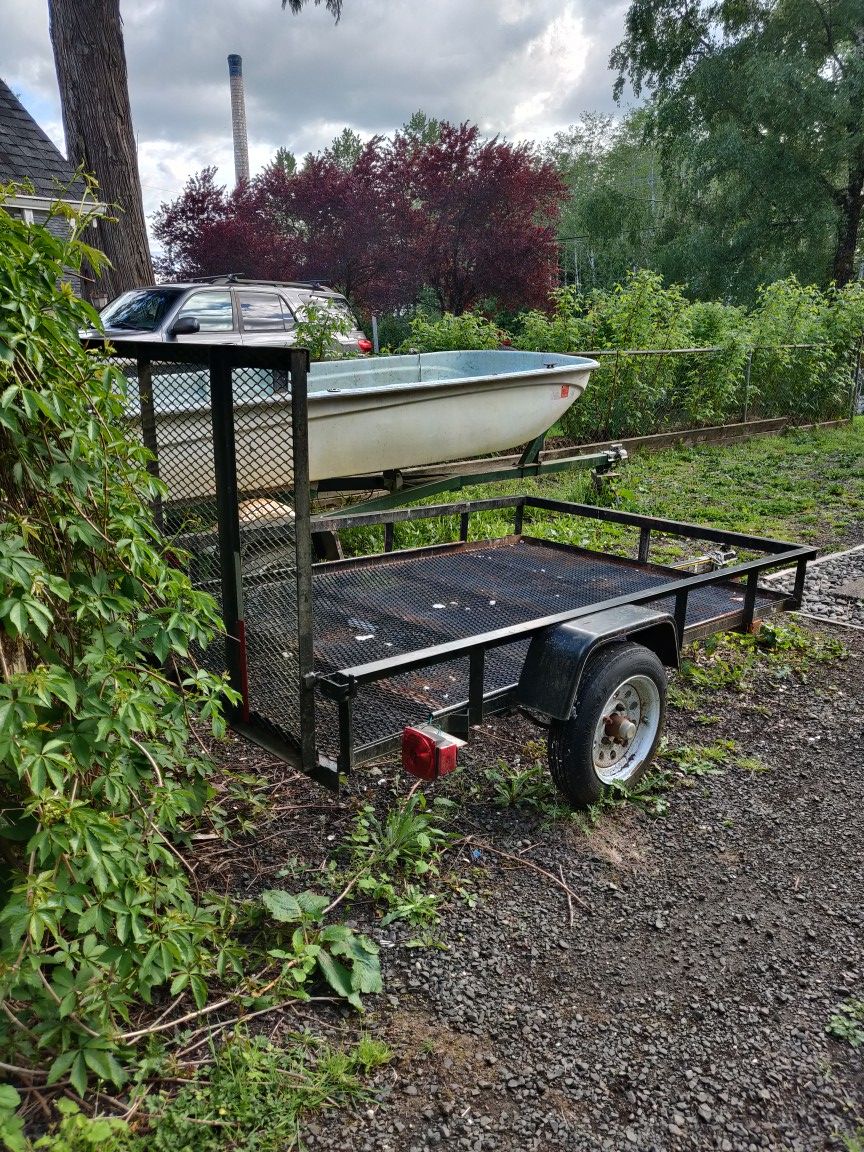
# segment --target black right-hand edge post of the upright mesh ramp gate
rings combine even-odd
[[[301,759],[306,772],[317,764],[314,736],[314,619],[312,614],[312,531],[309,498],[309,408],[306,373],[309,353],[295,349],[291,372],[291,447],[294,452],[294,537],[297,558],[297,675],[301,718]],[[340,712],[341,721],[341,712]],[[349,713],[350,727],[350,713]]]

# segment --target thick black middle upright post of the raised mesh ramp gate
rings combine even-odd
[[[225,658],[232,688],[243,698],[243,720],[249,719],[249,683],[243,627],[243,583],[240,553],[237,460],[234,445],[234,396],[226,349],[210,348],[210,407],[213,425],[213,469],[219,525],[219,568],[222,621],[227,632]],[[237,711],[237,710],[235,710]]]

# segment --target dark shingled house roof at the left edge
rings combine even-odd
[[[85,187],[74,176],[69,161],[0,79],[0,184],[28,182],[35,196],[77,203]],[[61,189],[68,189],[62,197]]]

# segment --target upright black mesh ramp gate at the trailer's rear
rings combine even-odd
[[[167,488],[157,522],[225,621],[198,657],[228,672],[235,722],[312,771],[308,354],[124,342],[113,358]]]

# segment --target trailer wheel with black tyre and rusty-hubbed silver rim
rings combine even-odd
[[[553,720],[552,778],[571,804],[585,808],[612,785],[631,787],[657,750],[666,717],[666,672],[642,644],[596,652],[582,674],[567,720]]]

